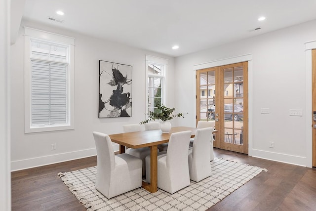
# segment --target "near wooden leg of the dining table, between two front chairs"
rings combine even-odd
[[[142,187],[151,193],[157,192],[157,145],[150,147],[150,184],[142,183]]]

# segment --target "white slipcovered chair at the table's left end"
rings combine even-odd
[[[142,160],[129,154],[114,155],[109,135],[93,132],[97,150],[95,188],[106,198],[142,186]]]

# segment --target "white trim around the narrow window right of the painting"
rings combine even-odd
[[[155,75],[155,74],[148,74],[148,65],[153,64],[153,65],[159,65],[163,66],[161,75]],[[160,78],[161,79],[161,103],[165,104],[166,103],[166,72],[168,68],[168,60],[164,58],[159,58],[156,56],[150,56],[146,55],[146,90],[145,90],[145,109],[146,109],[146,119],[148,118],[148,78],[149,77],[155,77],[155,78]]]

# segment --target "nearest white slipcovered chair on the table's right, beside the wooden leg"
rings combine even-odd
[[[158,188],[173,194],[190,185],[188,164],[190,137],[190,130],[172,133],[168,151],[164,154],[158,154]],[[146,157],[146,181],[150,183],[150,156]]]

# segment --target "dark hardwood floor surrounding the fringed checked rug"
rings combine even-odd
[[[268,169],[209,211],[316,211],[316,169],[214,149],[216,157]],[[12,172],[12,211],[85,211],[57,175],[96,165],[96,157]]]

